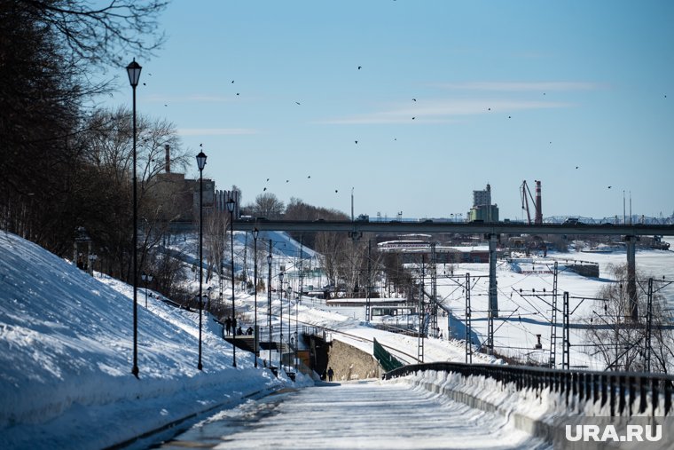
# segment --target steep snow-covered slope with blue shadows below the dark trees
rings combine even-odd
[[[198,314],[157,298],[138,302],[136,379],[131,289],[106,281],[0,233],[0,447],[110,446],[281,385],[246,352],[231,367],[208,317],[199,371]]]

